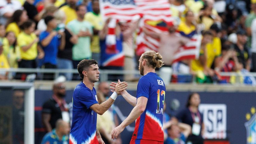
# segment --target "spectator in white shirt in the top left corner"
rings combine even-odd
[[[7,19],[10,18],[16,10],[23,10],[19,1],[0,0],[0,23],[5,25]]]

